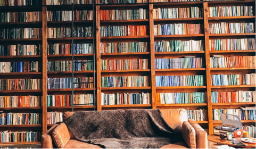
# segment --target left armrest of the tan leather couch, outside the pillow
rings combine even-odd
[[[52,131],[57,126],[59,126],[59,124],[55,124],[50,129],[48,129],[44,135],[42,135],[42,137],[41,137],[41,146],[42,146],[42,148],[56,148],[56,145],[53,142],[53,138],[52,138]]]

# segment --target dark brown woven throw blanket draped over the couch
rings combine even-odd
[[[159,109],[77,111],[64,122],[76,139],[105,148],[161,148],[183,141]]]

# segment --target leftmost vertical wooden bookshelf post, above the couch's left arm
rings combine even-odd
[[[43,5],[45,1],[43,1]],[[42,52],[42,59],[43,59],[43,79],[42,79],[42,126],[43,126],[43,134],[47,131],[47,20],[46,20],[46,6],[43,6],[42,10],[42,21],[43,21],[43,52]]]

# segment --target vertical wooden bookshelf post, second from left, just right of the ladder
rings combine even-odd
[[[97,62],[97,111],[101,111],[101,16],[100,6],[96,5],[96,62]]]

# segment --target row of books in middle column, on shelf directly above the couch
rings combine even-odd
[[[151,93],[101,93],[101,105],[151,104]]]

